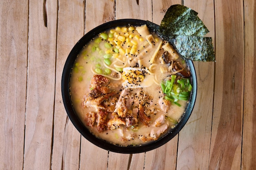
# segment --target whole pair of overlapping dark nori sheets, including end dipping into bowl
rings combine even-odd
[[[215,62],[212,38],[204,37],[209,30],[197,14],[183,5],[172,5],[166,11],[160,26],[150,21],[147,21],[147,26],[150,31],[173,45],[184,58]]]

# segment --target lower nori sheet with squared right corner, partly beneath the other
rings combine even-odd
[[[211,37],[177,35],[174,46],[186,59],[199,62],[215,62]]]

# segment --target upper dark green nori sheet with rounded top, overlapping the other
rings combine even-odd
[[[172,5],[166,11],[160,24],[164,35],[204,36],[209,32],[197,12],[180,4]]]

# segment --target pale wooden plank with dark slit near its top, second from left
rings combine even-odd
[[[57,5],[56,0],[29,1],[24,170],[51,165]]]

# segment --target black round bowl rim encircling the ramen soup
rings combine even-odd
[[[89,130],[83,125],[81,120],[76,115],[76,112],[74,111],[74,108],[72,107],[72,101],[70,99],[70,90],[69,90],[69,84],[70,84],[70,72],[71,68],[74,64],[74,61],[81,51],[83,49],[83,46],[87,44],[92,38],[94,38],[99,33],[108,30],[110,28],[116,27],[116,26],[127,26],[128,24],[132,26],[141,26],[143,24],[146,24],[146,21],[144,20],[136,20],[136,19],[122,19],[122,20],[114,20],[107,22],[105,24],[102,24],[100,26],[97,26],[96,28],[92,29],[88,33],[86,33],[73,47],[70,54],[67,57],[67,60],[65,62],[64,68],[63,68],[63,74],[62,74],[62,80],[61,80],[61,92],[63,97],[63,103],[65,106],[65,109],[67,111],[67,115],[70,118],[70,121],[74,124],[76,129],[92,144],[99,146],[100,148],[103,148],[105,150],[109,150],[112,152],[119,152],[119,153],[140,153],[140,152],[146,152],[149,150],[153,150],[155,148],[158,148],[159,146],[162,146],[166,144],[166,142],[170,141],[177,133],[180,132],[180,130],[184,127],[186,122],[188,121],[191,112],[193,110],[194,104],[195,104],[195,97],[197,92],[197,82],[196,82],[196,75],[195,75],[195,68],[193,66],[193,63],[188,60],[187,64],[189,65],[190,71],[191,71],[191,84],[192,84],[192,91],[191,91],[191,97],[189,100],[189,104],[186,108],[186,111],[184,115],[182,116],[179,124],[173,129],[171,129],[166,135],[163,137],[160,137],[157,141],[150,142],[148,144],[142,145],[142,146],[118,146],[110,144],[106,141],[103,141],[89,132]]]

